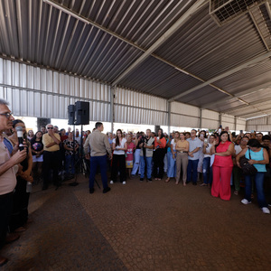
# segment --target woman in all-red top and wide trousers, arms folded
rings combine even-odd
[[[231,154],[234,153],[234,145],[229,141],[229,134],[223,131],[220,134],[218,145],[211,147],[215,159],[212,164],[212,185],[211,195],[219,197],[221,200],[229,201],[230,199],[230,176],[232,172]]]

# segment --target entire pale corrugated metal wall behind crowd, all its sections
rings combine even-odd
[[[15,116],[68,118],[67,108],[76,101],[88,101],[90,121],[110,121],[110,88],[107,84],[42,69],[0,58],[0,98],[7,99]],[[115,122],[168,125],[168,105],[159,98],[117,88]],[[201,117],[201,121],[200,121]],[[222,115],[222,125],[234,129],[234,117]],[[220,114],[180,102],[171,103],[171,126],[216,129]],[[245,130],[245,120],[238,129]]]

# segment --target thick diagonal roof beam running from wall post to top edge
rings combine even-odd
[[[183,23],[186,23],[187,20],[191,18],[191,15],[199,10],[201,5],[205,4],[205,2],[205,0],[198,0],[194,5],[192,5],[192,7],[185,14],[183,14],[176,23],[173,23],[173,26],[170,27],[170,29],[168,29],[156,42],[154,42],[154,44],[147,51],[145,51],[142,56],[140,56],[128,69],[120,74],[117,79],[113,81],[112,85],[116,86],[121,79],[124,79],[128,73],[134,70],[140,63],[145,61],[145,59],[149,57],[165,41],[167,41],[173,35],[173,33],[175,33],[182,26]]]

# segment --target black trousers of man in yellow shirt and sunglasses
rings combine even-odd
[[[53,184],[59,185],[58,180],[58,170],[61,164],[61,153],[60,151],[56,152],[43,152],[43,186],[47,187],[50,181],[50,171],[52,170],[53,175]]]

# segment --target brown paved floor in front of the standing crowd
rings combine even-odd
[[[110,186],[89,194],[79,176],[76,187],[35,187],[33,222],[2,250],[1,270],[271,270],[271,215],[257,201],[164,180]]]

